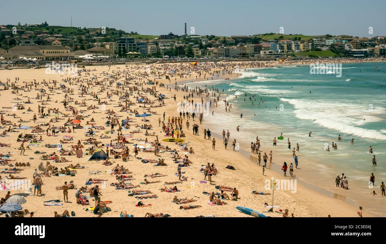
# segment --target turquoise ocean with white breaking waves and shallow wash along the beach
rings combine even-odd
[[[309,65],[242,69],[240,73],[230,80],[187,84],[221,92],[218,107],[212,105],[208,115],[212,117],[214,110],[215,120],[204,117],[212,132],[229,130],[232,140],[236,138],[247,150],[259,136],[261,150],[267,154],[273,138],[283,133],[277,152],[293,160],[292,149],[296,143],[300,146],[296,177],[386,216],[386,197],[380,191],[381,181],[386,182],[386,63],[342,64],[340,77],[334,68],[325,74],[312,73]],[[232,104],[231,112],[225,112],[223,99]],[[240,132],[235,130],[238,125]],[[370,146],[374,154],[369,153]],[[378,165],[373,166],[373,155]],[[276,163],[281,168],[283,162]],[[350,190],[335,186],[336,175],[342,173]],[[371,173],[376,177],[374,186],[369,184]],[[373,190],[379,195],[372,196]]]

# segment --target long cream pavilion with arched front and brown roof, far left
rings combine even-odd
[[[36,58],[42,61],[59,60],[65,61],[74,58],[75,54],[68,47],[63,46],[14,46],[7,53],[2,54],[4,59],[12,60],[25,58]]]

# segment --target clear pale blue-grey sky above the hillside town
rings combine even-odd
[[[372,37],[386,36],[385,9],[385,0],[18,0],[2,3],[0,25],[47,21],[71,26],[72,17],[76,27],[112,27],[147,35],[184,34],[186,22],[188,34],[196,35],[283,30],[284,34]]]

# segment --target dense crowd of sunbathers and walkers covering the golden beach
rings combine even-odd
[[[308,62],[309,61],[303,60],[300,64],[308,64]],[[287,62],[287,64],[291,64],[291,61]],[[15,146],[15,142],[11,141],[2,142],[0,145],[8,151],[0,154],[0,165],[5,167],[2,169],[1,173],[9,175],[6,177],[6,180],[31,179],[33,196],[45,197],[44,178],[72,176],[74,179],[78,179],[78,171],[89,168],[89,165],[81,165],[80,163],[72,162],[79,161],[79,158],[82,158],[83,156],[91,156],[92,159],[93,155],[102,149],[103,152],[106,152],[105,155],[107,157],[100,160],[100,163],[108,167],[109,172],[111,172],[109,175],[111,179],[85,179],[84,186],[76,186],[73,180],[64,180],[62,181],[64,182],[63,185],[60,184],[55,188],[56,190],[63,192],[63,202],[66,204],[72,203],[69,202],[68,192],[69,190],[74,190],[76,204],[87,207],[86,211],[93,213],[98,217],[112,211],[112,209],[108,207],[108,204],[112,203],[112,201],[101,200],[103,195],[100,187],[100,185],[102,185],[103,191],[107,191],[104,189],[107,189],[105,186],[110,182],[110,186],[113,186],[112,189],[128,190],[129,197],[139,200],[137,204],[139,207],[147,205],[142,203],[142,201],[158,198],[156,193],[150,190],[139,189],[140,187],[164,182],[163,184],[165,186],[159,189],[161,194],[172,192],[177,194],[180,191],[178,189],[180,187],[177,187],[177,185],[185,185],[186,181],[188,181],[188,175],[186,174],[185,169],[189,169],[190,167],[199,169],[199,173],[204,175],[202,182],[206,183],[206,180],[208,180],[210,183],[209,185],[213,187],[214,181],[212,177],[221,179],[222,175],[215,167],[215,163],[212,162],[200,166],[200,163],[194,160],[195,157],[192,155],[196,154],[196,152],[193,149],[193,146],[190,146],[188,142],[188,139],[191,139],[192,137],[187,136],[186,131],[192,129],[193,135],[200,136],[199,128],[200,126],[203,126],[202,122],[204,114],[196,114],[196,106],[200,103],[203,107],[207,106],[206,103],[204,103],[205,97],[205,99],[208,99],[209,108],[211,108],[212,105],[217,107],[217,103],[221,99],[221,92],[214,88],[205,87],[201,89],[200,87],[196,87],[193,89],[188,88],[186,85],[179,86],[177,85],[176,78],[179,77],[184,80],[213,80],[213,78],[219,78],[220,76],[230,76],[241,67],[246,69],[273,67],[277,65],[282,64],[277,61],[246,61],[238,63],[204,62],[200,63],[200,65],[192,65],[190,63],[168,63],[157,65],[151,64],[146,67],[139,65],[125,65],[125,68],[117,67],[116,69],[114,69],[114,64],[110,64],[108,65],[108,70],[103,71],[102,73],[97,73],[96,70],[83,69],[83,71],[78,72],[76,77],[63,78],[61,81],[34,80],[22,81],[22,83],[20,83],[18,77],[15,78],[15,81],[11,81],[11,79],[7,78],[5,82],[0,81],[0,85],[3,86],[2,90],[8,90],[7,92],[10,92],[15,97],[14,101],[16,102],[19,102],[20,98],[25,98],[25,103],[30,106],[28,107],[27,112],[32,112],[34,115],[31,116],[30,120],[22,120],[19,115],[24,113],[25,107],[22,106],[21,103],[21,106],[19,103],[17,103],[17,106],[14,106],[14,108],[17,109],[13,109],[13,114],[7,110],[12,107],[3,107],[4,110],[0,112],[1,126],[2,129],[4,129],[1,136],[7,137],[13,135],[12,133],[20,133],[16,139],[16,142],[19,143],[18,146]],[[174,84],[171,84],[173,78]],[[166,110],[162,111],[162,115],[157,114],[157,112],[161,112],[162,108],[168,104],[167,99],[170,99],[163,95],[161,90],[171,92],[172,86],[174,86],[174,92],[179,92],[179,98],[177,98],[176,95],[170,98],[174,101],[177,101],[177,99],[183,100],[183,106],[194,106],[195,108],[193,110],[179,111],[178,114],[173,114],[171,110]],[[32,93],[36,93],[36,97],[31,96]],[[50,98],[58,100],[54,102]],[[195,100],[201,100],[201,102],[195,102]],[[95,102],[95,104],[91,104],[90,101]],[[230,109],[232,109],[232,104],[229,104],[226,100],[224,100],[224,102],[226,111],[230,111]],[[262,99],[261,102],[263,102]],[[36,106],[34,103],[39,104]],[[52,105],[52,103],[54,103],[54,105]],[[110,109],[106,109],[107,105],[110,106]],[[37,114],[34,110],[37,110]],[[142,110],[142,112],[139,110]],[[168,114],[169,112],[170,114]],[[98,114],[100,114],[100,118],[105,120],[105,123],[100,124],[100,122],[96,122],[94,117],[98,116]],[[129,116],[127,116],[127,114],[129,114]],[[153,117],[154,115],[160,116],[157,118],[158,128],[156,128],[154,124],[152,125],[149,123],[151,119],[147,117],[148,115],[153,115]],[[212,115],[214,115],[213,112]],[[10,118],[5,119],[5,116],[9,116]],[[240,118],[243,117],[244,115],[241,114]],[[15,121],[12,121],[15,119],[18,119],[19,125],[17,125]],[[21,123],[25,126],[22,126]],[[193,123],[193,125],[190,123]],[[156,131],[158,129],[161,129],[161,134],[157,134]],[[153,132],[150,132],[152,130]],[[236,128],[236,131],[239,130],[240,126]],[[142,139],[143,137],[130,139],[136,133],[138,133],[138,135],[143,134],[145,139]],[[311,133],[312,132],[309,132],[309,136],[311,136]],[[281,136],[283,136],[283,134],[281,134]],[[58,137],[58,139],[56,139],[56,137]],[[217,141],[216,138],[213,137],[210,129],[203,128],[203,137],[204,140],[210,141],[214,151],[220,150],[216,147]],[[57,143],[44,144],[44,141],[48,138],[56,139]],[[168,140],[164,141],[160,138]],[[224,129],[222,131],[222,138],[222,144],[224,145],[225,150],[230,150],[227,148],[230,141],[232,141],[233,151],[239,149],[239,144],[236,139],[233,138],[232,140],[230,138],[229,130],[225,131]],[[78,141],[76,141],[76,139],[78,139]],[[132,152],[130,152],[129,149],[130,144],[133,146]],[[273,139],[273,146],[277,146],[277,144],[278,142],[275,137]],[[296,144],[296,148],[291,147],[289,138],[287,144],[288,149],[293,148],[293,159],[295,168],[297,169],[299,163],[297,152],[300,151],[300,147],[298,144]],[[336,144],[334,144],[334,149],[337,149],[335,148],[335,145]],[[36,146],[44,147],[45,149],[34,150],[34,148],[38,148]],[[17,150],[20,152],[12,151],[10,147],[17,147]],[[261,155],[261,147],[262,143],[257,136],[256,142],[251,142],[251,153],[257,154],[257,165],[262,166],[264,175],[264,171],[267,168],[271,168],[271,164],[273,163],[273,151],[269,151],[268,155],[267,152],[264,152],[264,154]],[[370,151],[372,153],[371,147]],[[31,163],[14,162],[15,160],[12,159],[12,157],[15,155],[29,156]],[[146,155],[152,155],[158,159],[149,159]],[[34,157],[39,157],[39,159],[35,159]],[[130,161],[151,163],[154,164],[154,166],[159,167],[157,168],[159,169],[159,172],[165,172],[164,169],[173,168],[173,166],[170,166],[173,165],[173,163],[176,163],[176,166],[172,171],[175,172],[174,175],[176,176],[176,180],[149,180],[149,178],[153,179],[167,176],[164,173],[149,173],[144,176],[144,182],[135,185],[130,182],[135,180],[135,172],[132,172],[130,166],[124,166],[123,164],[115,165],[117,161],[114,160],[116,159],[122,160],[122,163],[128,163]],[[261,164],[261,159],[264,161],[264,165]],[[45,165],[42,160],[46,161]],[[268,160],[269,166],[267,167]],[[40,164],[37,163],[37,161],[41,161]],[[65,163],[64,165],[66,166],[64,166],[63,163]],[[373,164],[376,164],[375,155]],[[36,167],[33,175],[25,175],[25,168],[23,167],[31,166]],[[283,163],[282,170],[284,171],[284,176],[287,176],[286,171],[288,170],[288,165],[286,162]],[[289,171],[291,177],[293,177],[293,170],[293,163],[290,163]],[[97,175],[99,173],[101,172],[90,171],[90,175]],[[216,181],[219,182],[221,180]],[[5,181],[0,176],[0,183],[4,182]],[[374,175],[371,176],[371,182],[374,185]],[[337,186],[348,189],[348,181],[344,174],[342,174],[342,176],[337,175]],[[203,194],[207,195],[209,198],[207,202],[208,205],[226,205],[227,200],[237,201],[241,199],[239,190],[234,186],[214,185],[214,188],[220,192],[209,190],[209,188],[208,191],[203,192]],[[384,195],[384,188],[385,186],[382,182],[382,195]],[[32,195],[32,189],[30,189],[30,193]],[[269,195],[269,193],[256,190],[252,191],[252,194]],[[375,191],[374,194],[376,194]],[[10,191],[8,191],[5,198],[1,199],[0,207],[3,204],[6,204],[9,197]],[[71,198],[72,197],[70,197],[70,199]],[[186,197],[179,198],[176,195],[172,202],[181,205],[197,202],[198,200],[199,199],[193,198],[188,199]],[[94,201],[94,203],[91,203],[92,201]],[[44,204],[45,206],[60,206],[63,205],[63,202],[61,200],[47,200]],[[94,205],[94,207],[88,207],[88,205]],[[189,210],[200,207],[202,206],[181,205],[179,206],[179,209]],[[32,217],[34,216],[34,213],[24,209],[22,211],[9,213],[7,217],[23,217],[27,215]],[[54,217],[70,216],[75,216],[75,212],[65,210],[63,213],[58,213],[57,211],[54,211]],[[126,210],[121,210],[120,212],[120,217],[132,216],[133,215],[128,214]],[[169,214],[164,213],[146,212],[145,214],[145,217],[169,216]],[[288,209],[284,211],[283,217],[288,217]]]

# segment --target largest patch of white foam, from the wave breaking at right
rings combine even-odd
[[[338,130],[355,136],[386,140],[386,135],[378,130],[369,130],[355,125],[369,122],[379,122],[378,114],[384,114],[385,109],[377,107],[369,111],[366,106],[353,103],[334,103],[326,100],[280,99],[295,107],[295,115],[299,119],[313,120],[323,127]],[[366,119],[366,120],[363,120]]]

